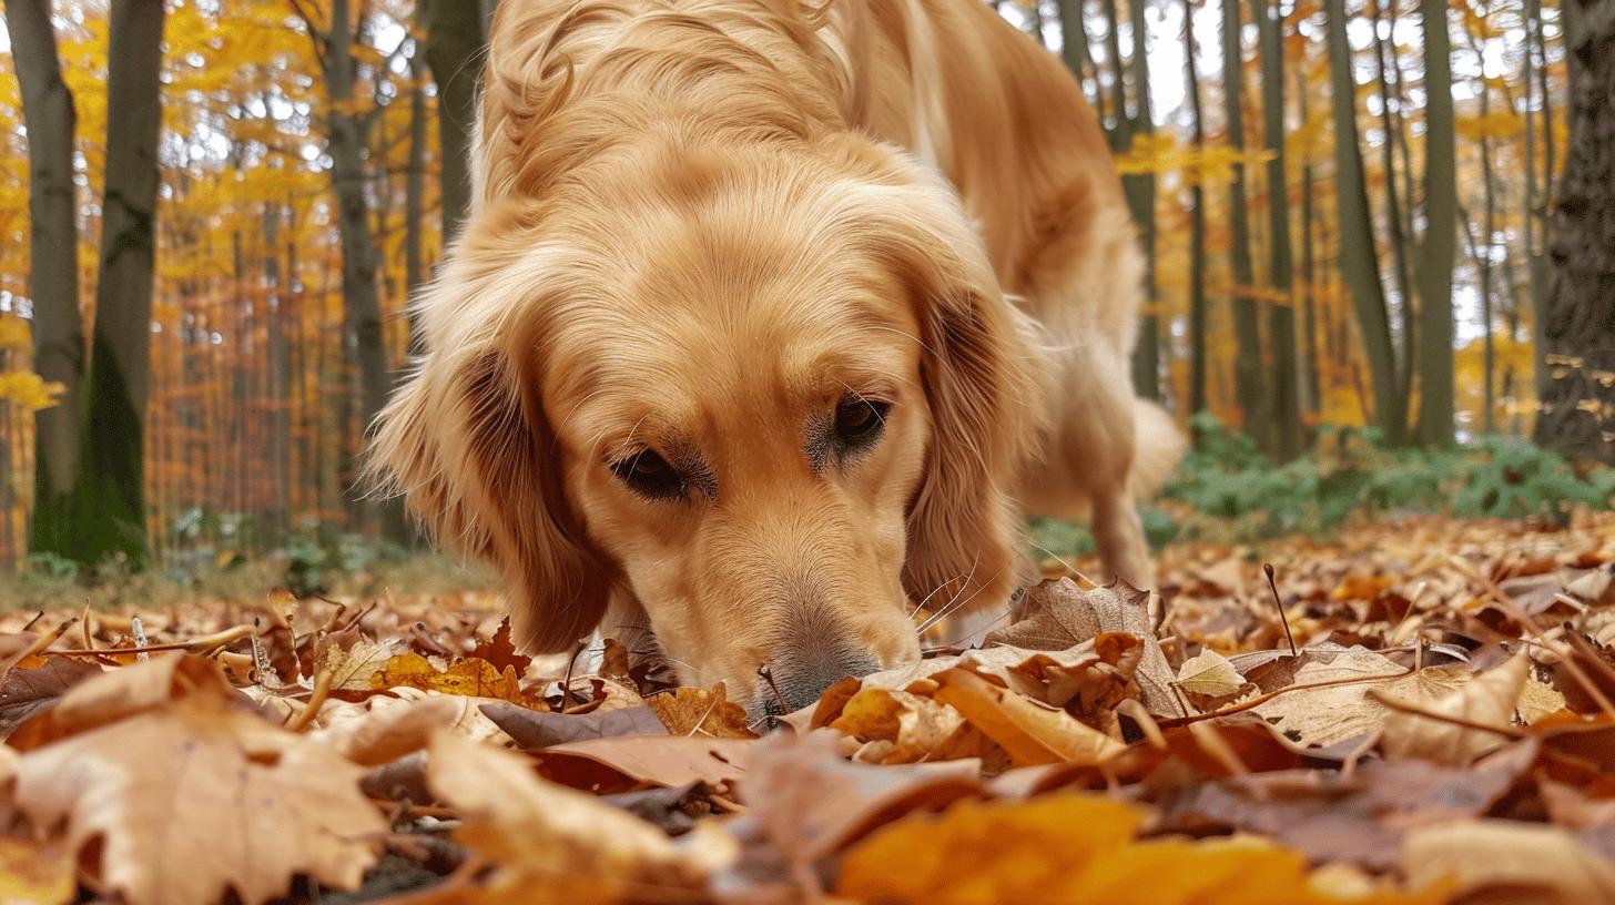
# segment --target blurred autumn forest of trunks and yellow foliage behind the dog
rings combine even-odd
[[[465,210],[491,0],[3,3],[0,566],[409,546],[355,457]],[[1609,504],[1615,3],[996,3],[1150,252],[1135,381],[1198,443],[1155,540]]]

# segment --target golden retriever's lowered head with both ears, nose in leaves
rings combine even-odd
[[[638,604],[683,680],[780,711],[1014,585],[1030,349],[896,150],[641,149],[481,208],[418,317],[373,464],[533,650]]]

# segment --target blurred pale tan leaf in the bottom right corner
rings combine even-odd
[[[1450,881],[1460,897],[1491,892],[1510,905],[1615,902],[1615,865],[1563,829],[1502,819],[1418,827],[1402,869],[1415,884]]]

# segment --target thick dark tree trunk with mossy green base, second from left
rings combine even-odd
[[[150,393],[163,0],[113,0],[107,48],[107,184],[79,477],[61,553],[86,564],[150,561],[144,415]]]

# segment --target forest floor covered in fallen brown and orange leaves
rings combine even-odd
[[[1615,514],[1048,566],[762,739],[488,590],[0,614],[0,900],[1615,902]]]

